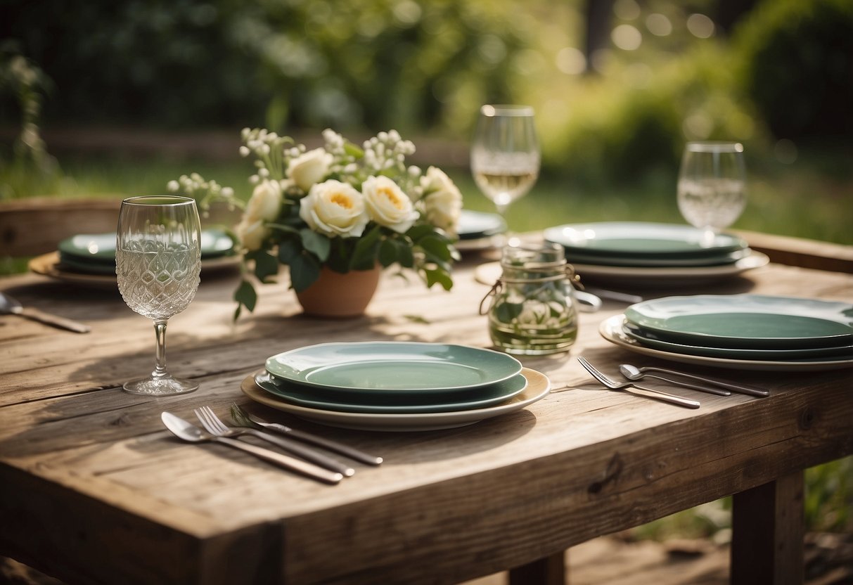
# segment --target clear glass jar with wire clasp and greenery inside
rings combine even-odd
[[[506,246],[501,268],[489,293],[489,333],[496,348],[521,356],[568,350],[577,339],[577,307],[563,246]]]

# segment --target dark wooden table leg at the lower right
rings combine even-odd
[[[734,495],[732,585],[804,579],[803,472]]]

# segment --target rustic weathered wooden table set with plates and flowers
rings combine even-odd
[[[655,362],[601,338],[601,320],[625,308],[606,302],[582,314],[571,352],[522,360],[554,391],[473,426],[346,431],[241,393],[267,356],[318,342],[488,346],[478,314],[488,287],[474,265],[456,269],[451,293],[388,275],[368,314],[348,321],[300,316],[278,284],[261,287],[256,312],[235,325],[235,276],[203,276],[168,333],[171,371],[201,387],[164,398],[119,389],[151,369],[154,335],[118,293],[0,279],[25,304],[92,327],[79,335],[0,317],[0,554],[67,582],[451,583],[511,568],[514,582],[560,582],[567,547],[734,494],[732,581],[800,582],[803,470],[853,453],[853,370],[687,366],[772,391],[683,391],[702,401],[698,410],[606,391],[576,356],[611,374],[620,362]],[[746,292],[849,301],[853,276],[770,264],[676,291]],[[231,403],[386,462],[328,486],[218,445],[178,442],[160,423],[163,410],[191,420],[204,404],[228,420]]]

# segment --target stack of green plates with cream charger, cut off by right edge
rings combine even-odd
[[[601,335],[630,350],[728,368],[853,365],[853,304],[757,294],[666,297],[631,305]]]

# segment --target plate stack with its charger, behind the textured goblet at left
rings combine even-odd
[[[62,240],[57,252],[30,261],[41,275],[81,284],[115,287],[115,233],[79,234]],[[201,269],[217,269],[239,262],[235,240],[225,229],[201,230]]]

